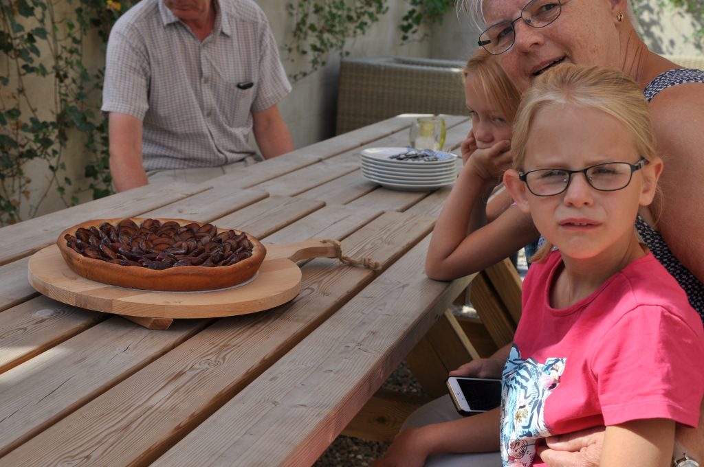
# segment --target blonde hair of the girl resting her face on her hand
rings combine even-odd
[[[516,115],[521,95],[498,61],[484,49],[478,49],[465,65],[464,76],[472,75],[479,79],[489,101],[495,103],[507,122]]]

